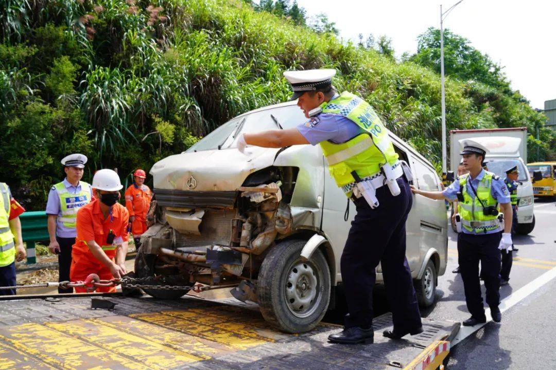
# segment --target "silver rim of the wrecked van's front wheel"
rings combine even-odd
[[[311,261],[297,260],[287,270],[285,281],[286,305],[297,317],[308,317],[316,311],[322,299],[322,273]]]

